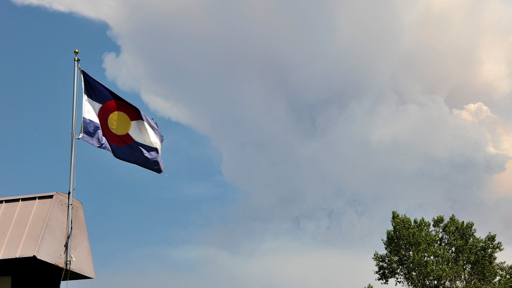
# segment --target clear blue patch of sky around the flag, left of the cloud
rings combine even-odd
[[[122,92],[105,78],[101,57],[119,47],[106,35],[104,23],[10,1],[2,1],[0,13],[2,38],[7,39],[0,48],[2,131],[4,139],[13,139],[2,144],[0,196],[67,193],[74,49],[80,49],[82,69],[152,113],[136,93]],[[79,93],[78,113],[81,86]],[[86,214],[98,275],[117,265],[113,255],[147,244],[195,241],[191,231],[208,225],[211,214],[224,214],[240,193],[225,181],[220,152],[208,137],[152,117],[165,137],[160,175],[77,142],[76,195]]]

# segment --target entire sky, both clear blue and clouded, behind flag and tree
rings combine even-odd
[[[0,197],[67,192],[74,49],[165,137],[160,175],[78,141],[71,287],[377,284],[392,210],[512,261],[510,3],[0,1]]]

